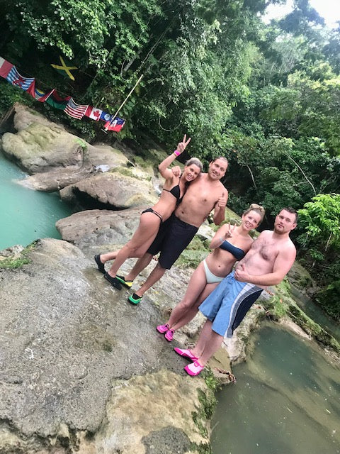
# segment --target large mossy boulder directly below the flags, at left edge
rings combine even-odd
[[[57,191],[95,172],[97,167],[126,166],[128,158],[108,145],[90,145],[64,127],[21,104],[13,106],[13,128],[4,133],[0,150],[31,176],[32,189]]]

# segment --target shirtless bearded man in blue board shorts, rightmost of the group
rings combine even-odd
[[[222,345],[231,338],[251,305],[268,285],[279,284],[295,261],[295,245],[289,233],[296,227],[297,212],[284,208],[275,218],[274,230],[260,233],[236,270],[200,305],[207,321],[193,350],[175,348],[177,354],[193,360],[184,370],[198,375]]]

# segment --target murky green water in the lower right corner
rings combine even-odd
[[[217,393],[213,454],[340,453],[340,367],[311,341],[266,326]]]

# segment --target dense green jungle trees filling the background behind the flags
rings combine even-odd
[[[308,0],[265,24],[268,3],[285,0],[0,0],[0,55],[40,88],[111,113],[144,74],[120,111],[120,138],[146,133],[171,148],[186,132],[189,153],[205,162],[227,155],[229,206],[263,204],[265,226],[280,207],[305,206],[300,257],[331,292],[340,238],[324,227],[334,220],[329,194],[339,193],[340,27],[327,29]],[[74,82],[50,66],[59,55],[79,67]],[[0,92],[3,110],[34,102],[2,79]],[[100,134],[94,121],[37,108],[88,140]],[[315,230],[308,204],[326,200]]]

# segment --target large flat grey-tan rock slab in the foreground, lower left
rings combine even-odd
[[[193,386],[155,330],[185,277],[158,289],[159,304],[151,292],[132,306],[66,241],[39,240],[26,257],[0,268],[1,453],[188,453],[208,443],[207,422],[192,417],[205,382]]]

